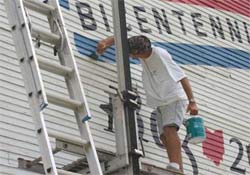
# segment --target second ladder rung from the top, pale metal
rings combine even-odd
[[[45,41],[54,45],[60,42],[59,35],[37,28],[36,26],[32,26],[31,34],[34,38],[38,38],[42,41]]]

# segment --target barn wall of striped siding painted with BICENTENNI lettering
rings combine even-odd
[[[113,34],[111,3],[106,0],[60,0],[66,28],[86,91],[96,146],[115,152],[114,133],[104,130],[107,114],[100,104],[117,87],[114,47],[94,60],[97,41]],[[182,142],[187,174],[250,174],[250,11],[249,1],[126,0],[128,35],[143,34],[166,48],[188,75],[206,126],[203,144]],[[45,17],[30,12],[33,25],[48,29]],[[51,46],[37,54],[56,61]],[[146,157],[142,162],[165,168],[168,159],[156,128],[153,109],[146,106],[142,68],[131,62],[133,86],[142,98],[139,132]],[[67,94],[64,79],[45,71],[47,91]],[[106,91],[106,92],[105,92]],[[44,116],[49,130],[78,137],[71,111],[49,105]],[[189,116],[187,116],[189,117]],[[185,139],[186,129],[180,129]],[[53,139],[51,140],[54,143]],[[34,125],[18,65],[3,0],[0,0],[0,174],[15,174],[17,158],[39,156]],[[58,154],[58,166],[77,159]],[[28,174],[28,173],[27,173]]]

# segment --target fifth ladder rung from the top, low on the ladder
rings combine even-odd
[[[76,144],[76,145],[86,146],[87,144],[89,144],[87,140],[83,140],[81,138],[74,138],[72,136],[62,134],[60,132],[48,131],[48,135],[58,140],[69,142],[69,143]]]

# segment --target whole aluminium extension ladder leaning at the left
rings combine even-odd
[[[81,145],[88,161],[90,173],[102,175],[97,151],[88,125],[88,120],[91,118],[90,110],[58,1],[5,0],[5,6],[41,151],[41,157],[31,163],[35,164],[42,160],[43,169],[49,175],[76,174],[56,167],[53,155],[56,151],[52,150],[49,141],[49,137],[53,137],[56,141]],[[26,7],[47,16],[51,32],[33,26],[26,12]],[[44,58],[38,58],[32,36],[37,40],[54,45],[54,51],[56,51],[60,63],[56,64]],[[70,97],[46,93],[39,67],[64,76]],[[48,102],[74,111],[81,139],[73,139],[58,132],[47,131],[42,110],[46,108]]]

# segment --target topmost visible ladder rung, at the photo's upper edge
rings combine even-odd
[[[34,10],[47,16],[51,15],[51,12],[56,9],[51,5],[39,2],[37,0],[24,0],[24,5],[31,10]]]

